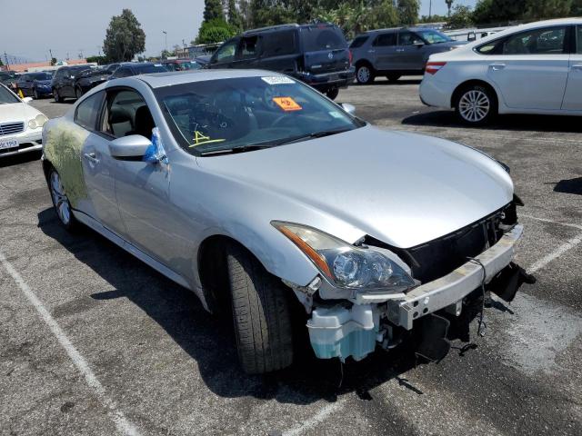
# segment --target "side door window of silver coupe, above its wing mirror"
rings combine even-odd
[[[154,127],[156,124],[146,101],[137,91],[125,88],[107,93],[102,133],[114,138],[141,134],[151,139]]]

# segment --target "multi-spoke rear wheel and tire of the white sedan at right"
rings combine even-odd
[[[487,86],[468,85],[457,93],[455,112],[462,123],[489,124],[497,116],[497,95]]]

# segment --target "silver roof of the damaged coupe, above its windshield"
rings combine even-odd
[[[146,82],[152,88],[161,88],[175,84],[189,84],[194,82],[205,82],[207,80],[235,79],[241,77],[261,77],[261,76],[284,76],[284,74],[274,73],[265,70],[186,70],[168,71],[167,73],[140,74],[127,79],[140,80]]]

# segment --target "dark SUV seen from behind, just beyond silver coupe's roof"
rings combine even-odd
[[[336,25],[275,25],[221,45],[205,68],[260,68],[288,74],[329,98],[354,81],[346,38]]]

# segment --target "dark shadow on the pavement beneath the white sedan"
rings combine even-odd
[[[563,132],[578,133],[582,131],[579,116],[558,115],[499,115],[497,119],[484,126],[467,126],[457,119],[454,111],[433,111],[414,114],[402,120],[402,124],[425,125],[431,127],[449,127],[485,130],[510,130],[525,132]]]

